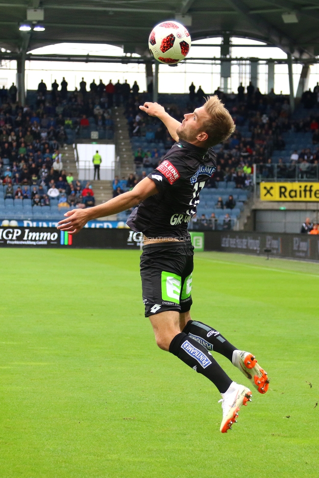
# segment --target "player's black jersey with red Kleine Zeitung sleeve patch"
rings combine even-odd
[[[212,148],[207,151],[186,141],[175,143],[147,176],[158,194],[141,202],[127,225],[147,238],[189,239],[187,226],[196,214],[199,192],[216,170],[215,158]]]

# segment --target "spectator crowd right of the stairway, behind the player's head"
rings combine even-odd
[[[238,128],[229,140],[215,147],[218,168],[208,187],[216,187],[219,181],[234,181],[236,188],[248,187],[254,164],[263,165],[264,176],[273,174],[272,154],[275,150],[285,149],[284,133],[311,133],[312,143],[315,146],[319,145],[319,114],[314,109],[319,106],[319,84],[314,92],[310,90],[305,92],[301,99],[301,104],[311,113],[303,119],[292,117],[289,96],[275,95],[273,90],[268,95],[263,95],[251,83],[246,91],[241,84],[236,95],[224,94],[219,88],[214,95],[217,95],[226,105]],[[164,102],[163,105],[170,115],[182,121],[183,115],[202,105],[204,98],[205,93],[202,88],[199,87],[196,91],[192,83],[186,104],[182,100],[178,102],[176,98],[175,102]],[[126,118],[132,144],[138,146],[134,149],[134,161],[136,173],[140,177],[143,171],[149,172],[151,168],[156,167],[173,144],[163,123],[147,116],[139,109],[139,105],[147,99],[151,100],[145,94],[132,95],[126,104]],[[312,108],[311,111],[310,108]],[[246,134],[241,133],[243,126],[247,131]],[[147,143],[152,147],[147,147]],[[319,147],[315,151],[311,151],[310,148],[295,151],[290,165],[292,177],[294,177],[296,165],[302,177],[302,174],[309,171],[311,165],[318,165],[318,160]],[[289,177],[288,168],[283,165],[282,159],[279,159],[278,164],[278,177]]]

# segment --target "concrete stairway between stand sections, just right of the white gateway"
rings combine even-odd
[[[116,173],[120,176],[120,179],[123,177],[127,179],[130,173],[134,173],[135,167],[134,156],[128,134],[127,120],[124,115],[123,107],[113,109],[113,120],[115,128],[115,150],[120,163]]]

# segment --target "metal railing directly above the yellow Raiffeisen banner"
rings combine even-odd
[[[254,183],[261,181],[319,181],[319,165],[257,164],[254,165]]]

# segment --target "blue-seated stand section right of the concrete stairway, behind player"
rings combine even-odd
[[[318,87],[306,92],[301,104],[291,114],[289,97],[262,95],[255,89],[248,96],[226,95],[219,89],[218,95],[231,112],[236,123],[235,134],[229,141],[215,147],[218,169],[207,189],[201,193],[196,223],[208,228],[228,228],[224,217],[231,216],[233,227],[245,201],[250,195],[255,167],[256,180],[271,179],[319,179],[319,110]],[[311,96],[312,100],[309,101]],[[138,104],[150,100],[146,94],[131,97],[126,105],[132,150],[134,151],[136,180],[143,178],[158,165],[172,146],[172,139],[162,123],[141,113]],[[159,95],[159,102],[176,119],[182,120],[185,112],[203,104],[200,96]],[[295,154],[297,156],[292,155]],[[236,207],[227,211],[217,208],[218,198],[223,203],[231,194]],[[204,216],[202,216],[204,215]],[[210,219],[213,215],[213,219]],[[121,213],[125,219],[125,213]],[[208,224],[208,225],[207,225]],[[204,227],[204,228],[205,228]]]

